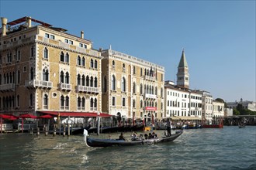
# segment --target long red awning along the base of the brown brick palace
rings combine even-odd
[[[61,117],[97,117],[97,113],[89,113],[89,112],[61,112],[61,111],[39,111],[41,114],[51,114],[54,116],[58,116],[60,114]],[[110,114],[99,114],[100,117],[113,117]]]

